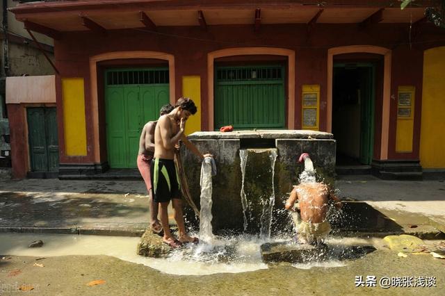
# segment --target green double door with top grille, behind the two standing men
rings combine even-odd
[[[157,120],[161,106],[170,101],[168,69],[109,69],[105,74],[108,164],[134,168],[144,124]]]

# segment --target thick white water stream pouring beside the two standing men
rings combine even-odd
[[[201,166],[201,211],[200,211],[200,239],[207,244],[213,243],[213,229],[211,226],[211,158],[205,158]]]

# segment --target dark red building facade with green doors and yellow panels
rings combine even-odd
[[[445,168],[445,31],[424,16],[435,4],[92,0],[12,12],[54,38],[60,174],[136,167],[145,122],[187,96],[198,113],[186,133],[327,131],[337,164],[403,176]]]

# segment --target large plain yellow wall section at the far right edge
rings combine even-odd
[[[420,164],[445,168],[445,47],[423,54]]]

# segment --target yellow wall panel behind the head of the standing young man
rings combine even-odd
[[[197,106],[197,113],[188,117],[186,135],[201,131],[201,77],[182,76],[182,95],[193,99]]]

